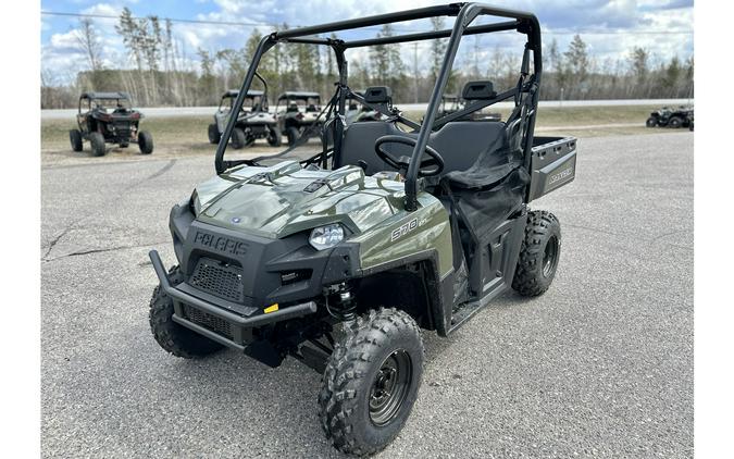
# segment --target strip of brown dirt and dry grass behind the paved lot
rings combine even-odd
[[[574,107],[544,108],[539,111],[537,134],[573,135],[577,137],[599,137],[609,135],[652,134],[672,132],[670,129],[649,129],[645,120],[655,107]],[[145,112],[145,110],[144,110]],[[499,110],[506,119],[509,110]],[[422,113],[407,113],[409,117],[419,120]],[[210,116],[170,116],[144,120],[141,127],[153,135],[155,150],[151,158],[183,158],[212,154],[214,146],[207,140],[207,126]],[[74,127],[74,120],[41,121],[41,163],[75,164],[99,161],[89,156],[89,145],[85,142],[85,151],[76,153],[69,145],[69,129]],[[314,148],[318,148],[313,142]],[[241,154],[257,156],[274,152],[266,142],[260,140]],[[140,156],[137,146],[129,148],[112,148],[104,161],[146,160]]]

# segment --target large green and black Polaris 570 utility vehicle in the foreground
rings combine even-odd
[[[483,15],[500,20],[472,25]],[[435,16],[456,17],[453,27],[321,37]],[[492,82],[469,82],[466,107],[437,117],[461,39],[507,30],[526,38],[517,85],[497,91]],[[391,107],[388,88],[368,88],[364,97],[350,90],[350,50],[438,38],[449,40],[423,123]],[[543,60],[531,13],[452,3],[274,32],[260,41],[233,110],[263,54],[291,42],[335,54],[339,80],[323,123],[334,141],[311,156],[288,148],[225,160],[229,120],[216,175],[171,210],[176,265],[166,271],[150,252],[160,282],[150,326],[174,356],[228,347],[270,367],[291,356],[322,372],[326,436],[344,452],[372,454],[410,414],[423,333],[452,334],[510,288],[527,297],[549,288],[560,223],[530,203],[573,181],[576,140],[534,136]],[[385,120],[346,126],[350,95]],[[502,100],[514,102],[506,121],[464,120]]]

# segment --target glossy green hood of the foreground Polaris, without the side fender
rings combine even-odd
[[[272,238],[335,222],[359,234],[398,212],[403,196],[402,183],[365,177],[357,166],[310,171],[284,161],[202,183],[195,208],[204,223]]]

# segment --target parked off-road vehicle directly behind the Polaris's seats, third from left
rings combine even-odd
[[[275,113],[281,133],[293,146],[301,135],[318,136],[321,96],[319,92],[285,91],[277,98]]]

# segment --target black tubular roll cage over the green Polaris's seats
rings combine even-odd
[[[370,27],[375,25],[384,25],[403,21],[414,21],[438,16],[456,17],[453,27],[445,30],[432,30],[425,33],[407,34],[390,37],[377,37],[353,41],[344,41],[341,39],[318,37],[318,35],[320,34],[331,34],[335,32],[348,30],[353,28]],[[471,25],[472,22],[476,20],[478,16],[498,16],[509,18],[510,21],[472,26]],[[369,17],[360,17],[354,20],[339,21],[309,27],[274,32],[270,35],[264,36],[260,40],[260,44],[258,45],[254,55],[252,57],[252,63],[248,69],[248,72],[245,76],[245,80],[242,82],[242,87],[239,91],[239,95],[237,96],[237,99],[235,100],[235,107],[233,107],[233,110],[237,111],[240,110],[245,95],[247,94],[247,90],[250,88],[252,80],[256,77],[257,69],[263,54],[279,42],[321,45],[331,47],[333,49],[336,55],[337,69],[339,71],[339,82],[337,83],[337,87],[344,89],[339,91],[338,110],[337,110],[338,115],[343,116],[345,113],[346,94],[348,91],[347,62],[344,55],[346,50],[376,45],[391,45],[408,41],[449,38],[446,48],[446,54],[444,57],[440,70],[438,71],[438,76],[436,78],[434,89],[428,100],[428,107],[426,109],[425,116],[419,129],[415,147],[413,148],[413,152],[411,156],[412,160],[406,174],[406,209],[412,211],[415,210],[418,207],[418,191],[419,191],[418,172],[420,169],[419,159],[421,158],[423,151],[425,150],[426,145],[428,144],[432,131],[436,127],[435,126],[435,123],[437,121],[436,114],[441,103],[441,95],[448,82],[450,71],[453,65],[453,60],[459,49],[459,44],[461,42],[461,38],[464,35],[476,35],[502,30],[517,30],[527,36],[527,44],[525,45],[525,53],[523,54],[522,76],[520,78],[518,87],[515,89],[512,89],[511,91],[498,95],[496,98],[493,99],[494,101],[487,100],[474,102],[469,107],[466,107],[464,110],[461,110],[452,115],[444,116],[441,120],[438,120],[438,122],[441,125],[446,124],[452,119],[459,119],[463,114],[478,110],[478,108],[482,107],[487,107],[490,103],[494,103],[498,100],[507,99],[509,97],[512,97],[513,95],[515,97],[515,106],[520,106],[521,91],[528,91],[531,100],[526,100],[525,103],[527,106],[531,106],[533,110],[531,110],[527,115],[527,126],[525,129],[524,144],[521,146],[525,159],[525,164],[527,164],[530,161],[531,150],[533,146],[533,133],[535,129],[536,111],[534,109],[537,107],[537,99],[538,99],[537,87],[540,84],[540,74],[543,72],[540,25],[538,23],[537,17],[532,13],[514,10],[506,10],[501,8],[494,8],[482,3],[451,3],[446,5],[420,8],[396,13],[378,14]],[[530,84],[527,84],[524,80],[524,77],[526,76],[528,51],[533,52],[533,71],[534,71],[533,78],[531,79]],[[449,116],[451,116],[451,119],[449,119]],[[341,135],[344,133],[344,125],[343,123],[337,122],[333,123],[333,126],[335,134],[334,154],[338,156],[340,154],[341,151],[340,144],[341,144]],[[224,153],[226,151],[228,139],[232,136],[232,131],[234,129],[234,127],[235,127],[235,120],[231,119],[225,127],[220,144],[216,148],[214,166],[216,169],[217,174],[223,173],[224,171],[236,164],[242,163],[242,161],[224,161]]]

